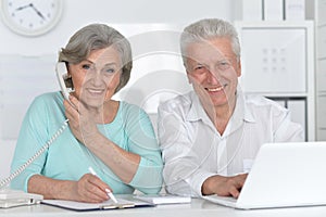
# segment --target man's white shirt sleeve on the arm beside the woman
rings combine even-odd
[[[164,159],[163,178],[167,192],[178,195],[202,196],[204,180],[214,176],[200,168],[202,159],[193,151],[183,115],[159,106],[158,133]]]

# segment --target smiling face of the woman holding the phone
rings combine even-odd
[[[110,100],[120,84],[122,62],[112,47],[93,50],[78,64],[68,64],[75,97],[88,106],[99,107]]]

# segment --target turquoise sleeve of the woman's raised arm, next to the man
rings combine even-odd
[[[129,184],[143,193],[158,193],[163,183],[163,162],[151,120],[141,108],[129,107],[127,115],[128,151],[141,157]]]

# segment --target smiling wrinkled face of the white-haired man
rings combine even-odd
[[[230,39],[214,38],[190,43],[186,67],[201,103],[217,108],[235,102],[241,64],[231,49]]]

